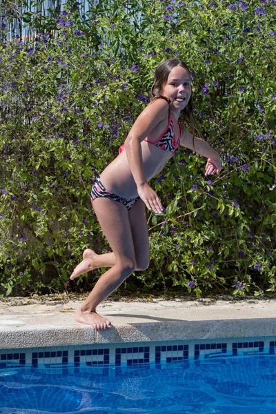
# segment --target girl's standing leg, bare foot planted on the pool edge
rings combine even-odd
[[[105,329],[110,327],[110,322],[96,313],[97,305],[135,270],[135,248],[128,210],[124,205],[108,198],[97,198],[93,208],[116,259],[115,265],[99,278],[75,319],[96,329]]]

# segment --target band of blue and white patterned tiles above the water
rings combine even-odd
[[[276,336],[0,349],[0,370],[19,365],[34,368],[156,365],[187,359],[275,355],[275,350]]]

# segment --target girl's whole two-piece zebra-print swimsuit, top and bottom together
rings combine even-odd
[[[178,136],[178,139],[176,140],[175,130],[174,130],[173,121],[172,121],[172,115],[169,110],[168,125],[166,126],[164,132],[161,133],[160,137],[157,138],[157,140],[154,142],[148,141],[148,139],[144,139],[144,141],[148,142],[149,144],[155,145],[164,151],[170,151],[172,152],[172,155],[175,155],[175,152],[177,152],[177,149],[179,148],[179,142],[180,142],[180,137],[181,137],[181,126],[179,124],[179,120],[178,120],[178,125],[179,125],[179,136]],[[123,150],[124,150],[124,144],[120,146],[119,153],[121,153]],[[140,197],[136,197],[135,199],[125,199],[124,197],[119,197],[119,195],[116,195],[106,190],[106,188],[104,188],[103,184],[101,183],[101,180],[97,178],[95,184],[92,186],[91,202],[99,197],[108,197],[112,200],[119,201],[119,203],[124,204],[124,206],[128,210],[130,210],[133,204],[135,204],[135,201],[139,200],[140,198]]]

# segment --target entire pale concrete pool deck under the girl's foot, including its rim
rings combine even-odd
[[[1,349],[276,335],[276,299],[108,300],[97,308],[112,323],[104,331],[75,321],[83,300],[8,299],[0,299]]]

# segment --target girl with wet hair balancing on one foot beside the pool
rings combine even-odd
[[[134,270],[149,265],[146,208],[161,213],[161,201],[149,181],[175,155],[179,146],[195,150],[208,158],[205,175],[219,174],[219,154],[204,139],[194,137],[180,124],[179,116],[192,117],[193,101],[190,70],[179,59],[159,64],[150,91],[150,103],[132,126],[119,155],[101,172],[92,186],[92,206],[111,253],[97,255],[89,248],[83,261],[70,276],[99,267],[110,267],[95,284],[77,311],[77,322],[95,329],[111,327],[96,312],[97,306],[121,285]]]

